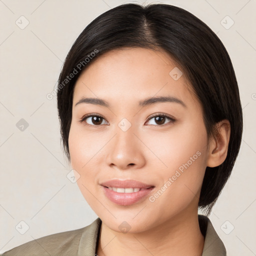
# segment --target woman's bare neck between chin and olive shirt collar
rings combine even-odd
[[[160,225],[140,233],[120,233],[100,227],[98,256],[200,256],[204,245],[197,211],[195,214],[179,213]]]

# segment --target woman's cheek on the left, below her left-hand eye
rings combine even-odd
[[[101,134],[100,134],[101,133]],[[83,125],[71,124],[68,145],[71,166],[79,174],[76,183],[89,205],[93,207],[95,188],[98,184],[102,155],[109,138],[98,130],[86,131]]]

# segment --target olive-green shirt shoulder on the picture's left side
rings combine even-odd
[[[0,256],[57,256],[78,255],[80,241],[90,246],[95,242],[101,220],[97,218],[91,224],[65,232],[55,233],[23,243]]]

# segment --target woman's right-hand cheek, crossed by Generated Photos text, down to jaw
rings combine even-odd
[[[158,158],[167,165],[161,165],[158,175],[162,181],[151,198],[158,209],[165,207],[166,212],[178,212],[199,198],[206,168],[207,134],[198,123],[173,128],[168,135],[158,136],[157,143],[151,141]]]

